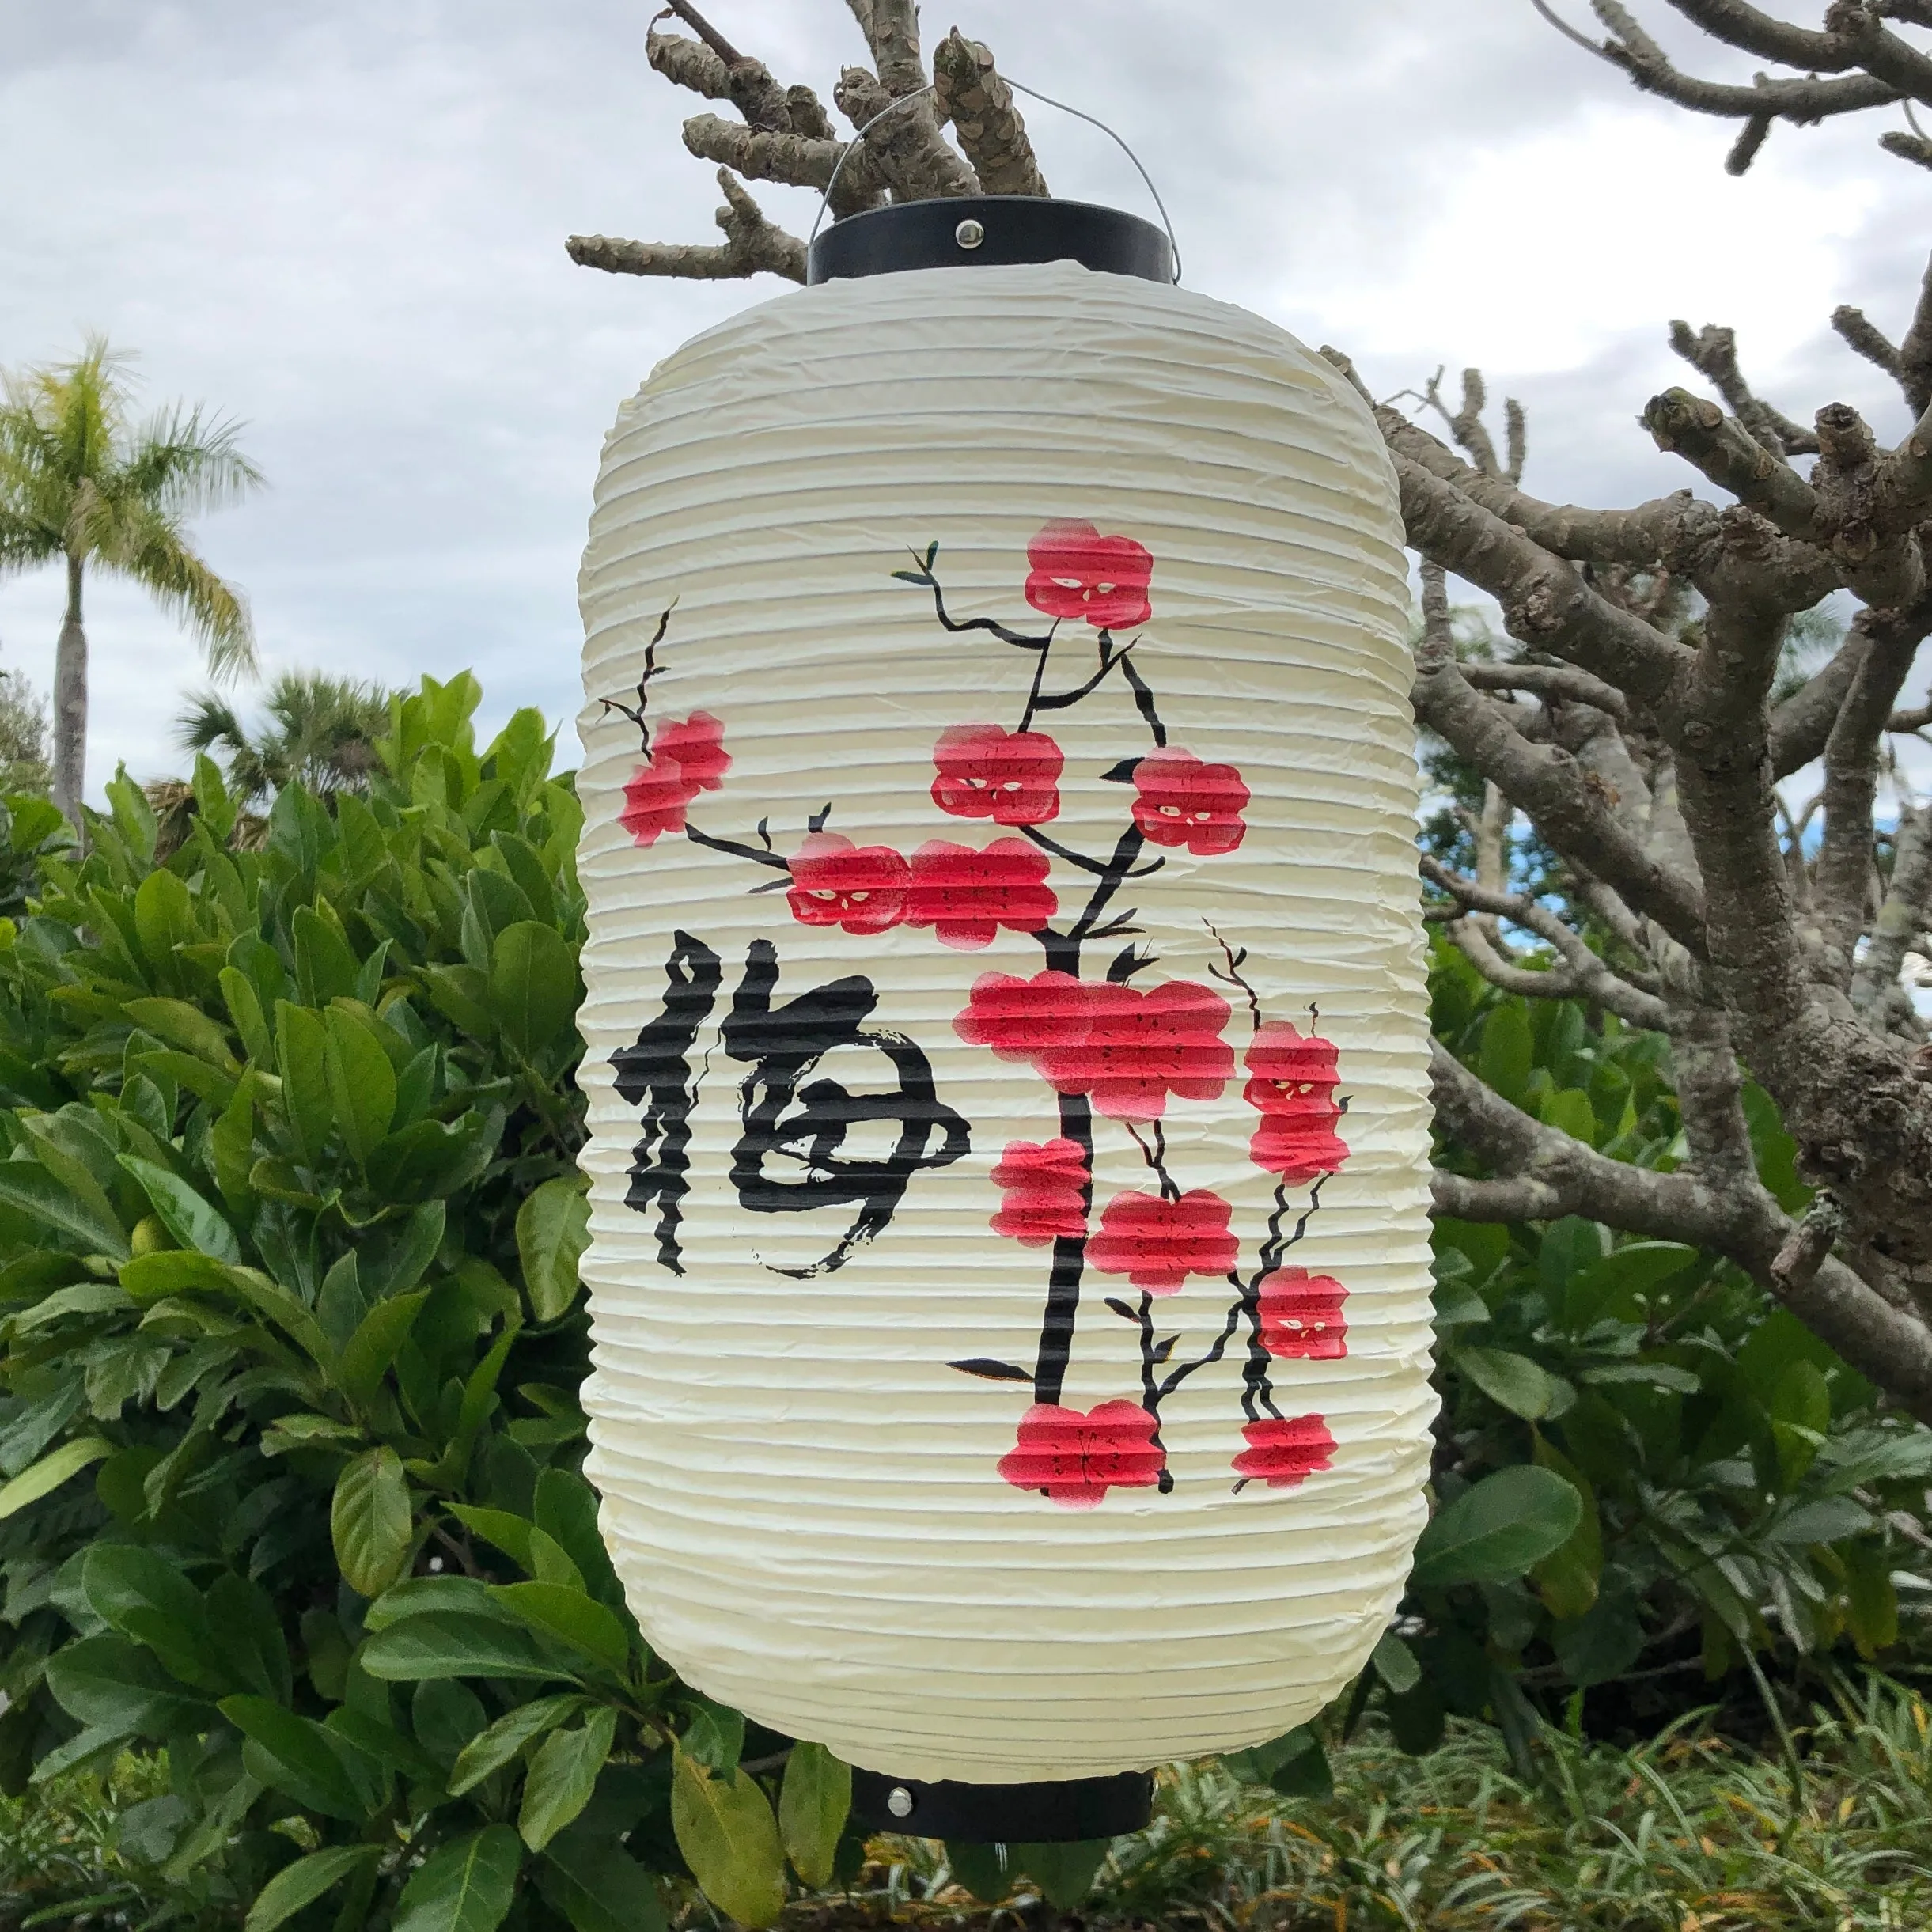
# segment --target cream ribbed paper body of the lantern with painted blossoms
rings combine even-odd
[[[831,282],[624,406],[582,591],[589,1474],[649,1640],[904,1777],[1310,1716],[1435,1406],[1366,408],[1173,288]]]

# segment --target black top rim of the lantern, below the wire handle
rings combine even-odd
[[[1032,261],[1076,261],[1099,274],[1134,274],[1144,282],[1175,278],[1167,236],[1138,214],[1036,195],[949,195],[895,201],[833,222],[811,242],[806,282]]]

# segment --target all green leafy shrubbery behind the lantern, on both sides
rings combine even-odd
[[[114,1826],[155,1922],[649,1932],[696,1878],[763,1924],[864,1857],[842,1766],[667,1673],[597,1536],[580,813],[543,721],[479,750],[477,699],[425,680],[359,788],[290,777],[253,831],[207,757],[160,842],[126,779],[85,860],[10,804],[0,1783],[158,1754]],[[1434,993],[1509,1099],[1675,1159],[1656,1037],[1449,945]],[[1486,1721],[1542,1779],[1551,1727],[1718,1702],[1776,1743],[1845,1660],[1909,1662],[1932,1435],[1750,1283],[1580,1221],[1443,1221],[1437,1271],[1405,1615],[1323,1723],[1231,1760],[1240,1803],[1318,1801],[1370,1718],[1410,1752]],[[1068,1905],[1103,1855],[949,1847]]]

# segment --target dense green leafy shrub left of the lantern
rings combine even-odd
[[[118,781],[0,947],[0,1776],[166,1747],[160,1882],[251,1932],[647,1928],[674,1806],[740,1917],[784,1895],[578,1474],[582,815],[477,696],[259,850],[203,759],[156,866]]]

